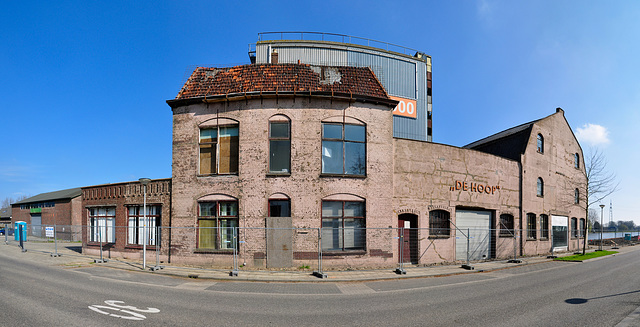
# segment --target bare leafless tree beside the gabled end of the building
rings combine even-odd
[[[589,149],[589,153],[584,157],[583,174],[583,182],[578,184],[578,189],[581,194],[585,195],[583,205],[585,217],[590,218],[589,208],[591,205],[617,191],[620,182],[617,181],[615,173],[607,170],[607,160],[598,149]],[[585,254],[587,249],[588,229],[586,234],[582,254]]]

